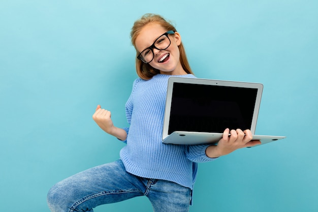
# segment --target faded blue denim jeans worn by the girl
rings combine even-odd
[[[189,209],[192,191],[171,181],[130,174],[118,160],[60,181],[50,189],[47,202],[52,212],[92,212],[98,205],[143,195],[155,212],[184,212]]]

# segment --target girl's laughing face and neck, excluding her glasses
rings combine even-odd
[[[145,25],[135,40],[136,49],[142,52],[153,44],[153,42],[162,34],[167,32],[167,29],[158,23],[149,23]],[[183,75],[186,72],[183,70],[180,63],[180,52],[178,46],[181,43],[179,33],[168,35],[171,41],[170,46],[165,50],[153,48],[154,58],[149,65],[160,70],[161,74]]]

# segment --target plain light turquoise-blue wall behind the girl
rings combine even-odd
[[[128,126],[130,29],[145,13],[176,24],[197,77],[261,82],[256,133],[286,139],[199,165],[190,211],[318,211],[318,2],[1,1],[0,199],[48,212],[57,181],[119,157],[91,116]],[[95,211],[151,211],[147,198]]]

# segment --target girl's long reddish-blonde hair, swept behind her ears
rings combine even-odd
[[[132,39],[132,44],[134,45],[136,49],[136,70],[137,74],[140,78],[142,79],[150,79],[156,74],[160,74],[160,71],[158,69],[155,69],[151,67],[149,64],[143,63],[140,59],[137,58],[139,55],[139,51],[136,48],[136,38],[138,37],[141,29],[149,24],[149,23],[159,23],[162,27],[164,27],[167,31],[176,31],[176,28],[168,21],[166,21],[162,16],[156,15],[156,14],[151,14],[147,13],[143,15],[139,20],[135,21],[134,26],[132,27],[131,31],[131,39]],[[188,74],[193,74],[190,65],[188,63],[188,60],[186,58],[185,50],[183,47],[182,42],[178,46],[179,51],[180,51],[180,63],[184,71]]]

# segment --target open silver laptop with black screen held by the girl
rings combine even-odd
[[[262,92],[261,83],[170,77],[163,143],[217,144],[226,128],[249,129],[262,144],[285,138],[254,135]]]

